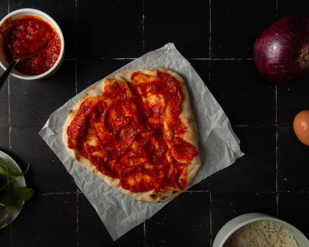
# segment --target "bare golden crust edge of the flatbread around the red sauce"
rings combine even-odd
[[[68,136],[67,136],[67,128],[70,125],[71,121],[74,119],[74,117],[77,115],[78,109],[80,105],[89,97],[94,97],[97,95],[102,95],[104,92],[104,86],[108,85],[109,83],[112,83],[113,80],[121,81],[121,82],[130,82],[130,77],[132,73],[139,72],[143,74],[151,74],[151,73],[167,73],[171,77],[176,78],[176,80],[180,83],[180,92],[182,94],[182,102],[181,102],[181,113],[179,115],[179,119],[181,123],[183,123],[185,126],[187,126],[187,130],[184,133],[183,140],[190,143],[195,147],[196,150],[198,150],[198,131],[197,126],[194,121],[190,102],[189,102],[189,94],[186,89],[186,86],[184,84],[184,80],[180,75],[177,73],[167,70],[167,69],[161,69],[161,68],[139,68],[139,69],[129,69],[120,73],[117,73],[109,78],[104,78],[97,86],[92,88],[90,91],[88,91],[84,96],[76,103],[76,105],[70,110],[69,116],[66,119],[64,126],[63,126],[63,132],[62,132],[62,140],[65,145],[65,148],[67,152],[70,154],[71,157],[73,157],[80,165],[82,165],[87,170],[97,174],[100,178],[102,178],[105,182],[107,182],[110,186],[116,188],[117,190],[121,191],[122,193],[129,195],[139,201],[146,201],[151,203],[158,203],[158,202],[164,202],[167,201],[173,197],[175,197],[178,193],[180,193],[181,190],[173,190],[169,189],[166,192],[158,192],[153,193],[152,190],[146,191],[146,192],[137,192],[134,193],[130,190],[126,190],[120,186],[120,180],[118,178],[111,178],[109,176],[106,176],[99,172],[95,165],[91,164],[91,162],[84,157],[82,157],[77,149],[69,149],[68,148]],[[168,131],[168,130],[167,130]],[[187,179],[188,184],[192,181],[192,179],[195,177],[198,169],[201,166],[201,160],[199,155],[193,157],[191,163],[188,164],[187,168]]]

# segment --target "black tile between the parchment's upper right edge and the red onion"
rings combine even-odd
[[[261,80],[252,60],[210,61],[209,89],[232,125],[276,124],[276,87]]]

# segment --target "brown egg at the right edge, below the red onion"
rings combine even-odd
[[[295,116],[293,128],[297,138],[309,146],[309,110],[301,111]]]

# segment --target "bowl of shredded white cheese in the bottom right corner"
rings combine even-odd
[[[293,225],[262,213],[248,213],[228,221],[212,247],[306,247],[307,237]]]

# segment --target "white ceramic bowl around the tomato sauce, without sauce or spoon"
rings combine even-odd
[[[40,74],[40,75],[29,76],[29,75],[25,75],[23,73],[18,72],[15,69],[13,69],[13,71],[11,72],[11,75],[13,75],[17,78],[20,78],[20,79],[24,79],[24,80],[35,80],[35,79],[42,79],[42,78],[48,77],[48,76],[52,75],[53,73],[55,73],[59,69],[59,67],[61,66],[63,59],[64,59],[64,38],[63,38],[62,31],[61,31],[60,27],[58,26],[58,24],[54,21],[53,18],[51,18],[49,15],[45,14],[44,12],[42,12],[40,10],[36,10],[36,9],[15,10],[15,11],[11,12],[10,14],[6,15],[1,20],[0,26],[2,25],[4,20],[8,17],[15,19],[15,18],[18,18],[19,16],[23,16],[23,15],[38,16],[38,17],[44,19],[45,21],[47,21],[52,27],[54,27],[54,29],[58,32],[58,35],[59,35],[59,38],[60,38],[60,41],[61,41],[61,50],[60,50],[60,55],[59,55],[56,63],[53,65],[53,67],[51,67],[45,73]],[[0,42],[0,49],[3,49],[2,48],[2,42]],[[3,69],[6,69],[9,64],[8,64],[6,58],[2,56],[2,54],[3,54],[3,52],[0,52],[0,65]]]

